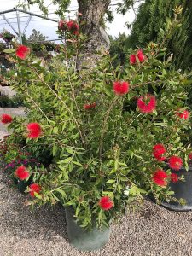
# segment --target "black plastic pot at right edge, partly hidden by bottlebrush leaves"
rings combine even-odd
[[[189,171],[184,168],[175,171],[178,176],[183,175],[185,182],[179,181],[177,183],[170,183],[171,190],[175,192],[173,197],[177,199],[183,198],[186,205],[180,205],[177,202],[162,202],[162,206],[173,211],[189,211],[192,210],[192,166],[189,166]]]

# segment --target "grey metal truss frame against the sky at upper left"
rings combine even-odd
[[[11,25],[11,23],[8,20],[8,18],[5,16],[5,14],[12,13],[12,12],[16,12],[18,32],[15,30],[14,26]],[[20,28],[20,13],[24,13],[24,14],[29,15],[29,19],[26,21],[26,26],[25,26],[23,32],[21,32],[21,28]],[[36,16],[36,17],[41,18],[43,20],[50,20],[50,21],[58,23],[58,20],[53,20],[53,19],[50,19],[50,18],[46,18],[46,17],[44,17],[42,15],[36,15],[36,14],[34,14],[32,12],[28,12],[28,11],[25,11],[23,9],[17,9],[17,8],[8,9],[8,10],[5,10],[3,12],[0,12],[0,15],[3,15],[3,19],[8,23],[8,25],[13,29],[15,34],[18,36],[18,38],[20,40],[20,44],[22,44],[22,35],[26,32],[26,29],[27,29],[30,21],[32,20],[32,16]]]

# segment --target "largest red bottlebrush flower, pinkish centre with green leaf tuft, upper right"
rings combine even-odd
[[[142,113],[152,113],[156,108],[156,99],[155,96],[146,95],[141,96],[137,100],[137,107]]]

